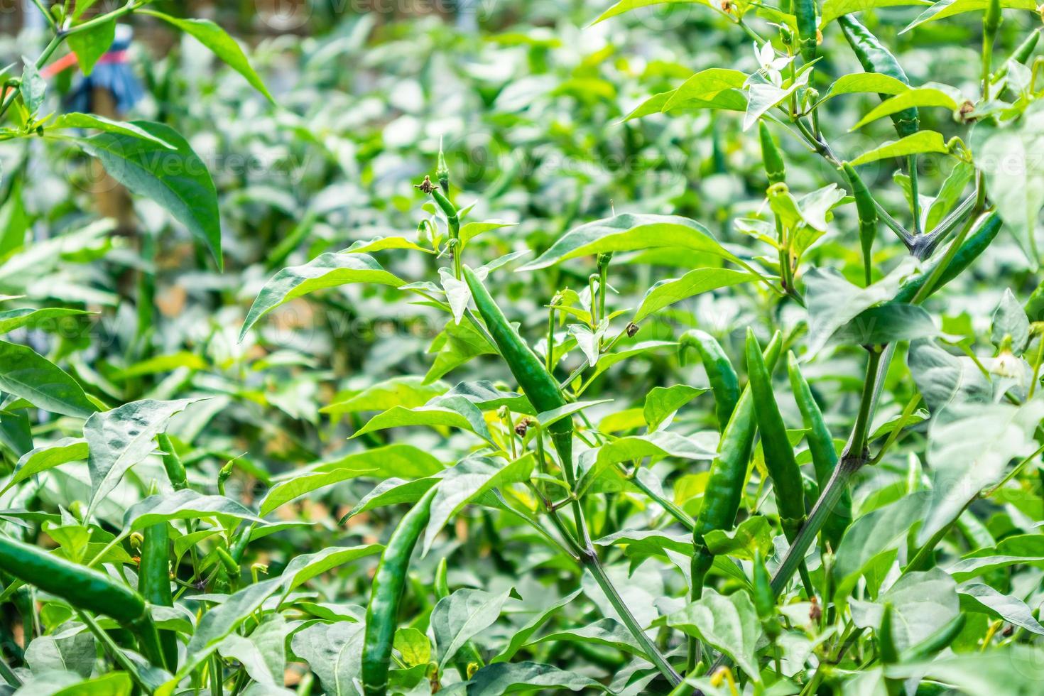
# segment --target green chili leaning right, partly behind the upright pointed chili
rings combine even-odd
[[[764,362],[772,369],[783,350],[783,337],[777,332],[764,353]],[[699,599],[704,591],[704,578],[714,554],[707,549],[704,535],[714,529],[732,529],[743,498],[746,482],[746,466],[754,449],[757,422],[754,415],[754,395],[748,385],[739,397],[729,424],[721,432],[717,456],[711,462],[711,471],[704,490],[704,504],[696,515],[692,533],[692,598]]]

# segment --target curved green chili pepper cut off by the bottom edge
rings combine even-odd
[[[392,532],[374,575],[366,607],[366,628],[362,643],[362,693],[384,696],[392,664],[392,642],[399,622],[399,603],[406,583],[409,558],[417,539],[428,524],[436,487],[429,488]]]

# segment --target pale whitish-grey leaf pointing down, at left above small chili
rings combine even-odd
[[[156,436],[167,422],[198,399],[155,401],[145,399],[103,413],[95,413],[84,425],[84,437],[91,448],[91,501],[87,517],[116,487],[128,469],[156,449]]]

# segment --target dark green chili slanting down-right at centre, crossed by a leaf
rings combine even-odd
[[[471,296],[475,299],[478,313],[485,321],[485,328],[529,403],[539,413],[565,406],[566,400],[559,390],[559,383],[547,371],[547,367],[532,349],[522,340],[515,327],[507,321],[507,317],[497,307],[475,271],[465,267],[464,278],[471,290]],[[569,484],[572,485],[575,482],[572,471],[573,422],[571,418],[562,418],[551,424],[547,430],[562,459],[562,467],[566,472]]]

